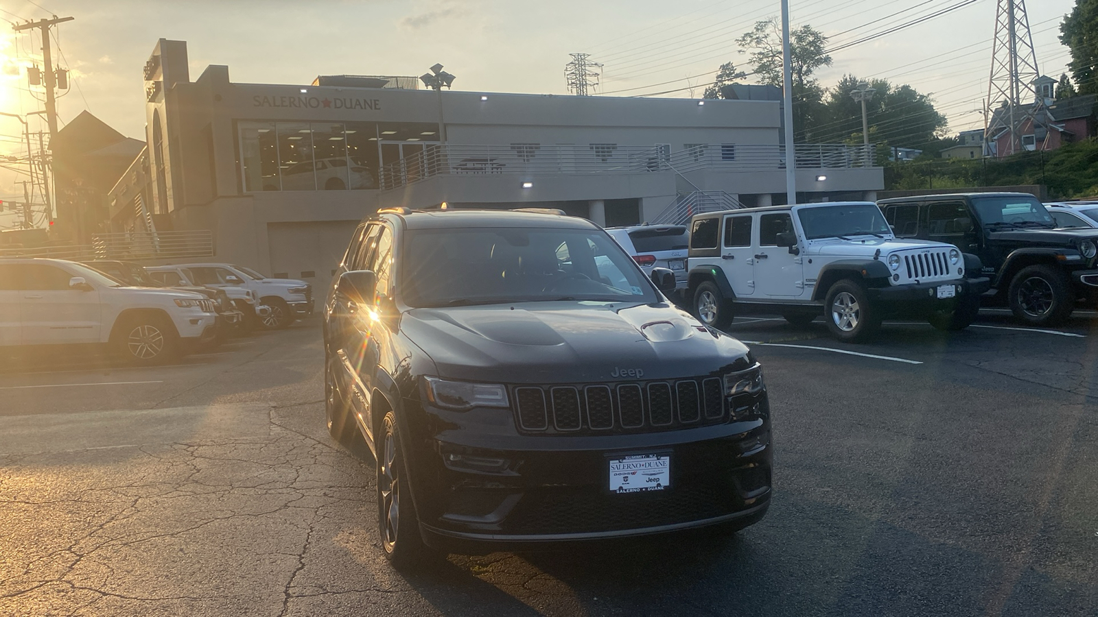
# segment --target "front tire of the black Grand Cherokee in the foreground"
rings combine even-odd
[[[427,548],[408,490],[404,449],[393,412],[382,419],[378,442],[378,534],[385,559],[399,571],[413,570]]]

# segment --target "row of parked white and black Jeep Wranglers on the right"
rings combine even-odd
[[[1098,229],[1055,218],[1067,212],[1095,221],[1098,204],[965,193],[698,214],[685,295],[717,328],[738,312],[795,325],[822,315],[850,343],[871,338],[886,317],[961,329],[981,305],[1056,325],[1098,304]]]

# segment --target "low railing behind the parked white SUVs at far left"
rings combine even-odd
[[[142,261],[147,259],[182,259],[213,257],[213,233],[195,232],[128,232],[98,234],[90,245],[51,245],[0,248],[0,257],[49,257],[72,261],[112,259]]]

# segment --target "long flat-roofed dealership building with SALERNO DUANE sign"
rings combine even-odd
[[[757,89],[699,101],[435,91],[400,77],[260,85],[217,65],[192,81],[186,42],[168,40],[145,80],[147,152],[112,190],[112,214],[209,231],[216,260],[314,283],[381,207],[524,204],[613,226],[785,202],[781,103]],[[866,148],[796,150],[798,201],[873,200],[884,186]]]

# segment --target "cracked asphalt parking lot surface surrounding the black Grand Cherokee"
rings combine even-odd
[[[0,369],[0,615],[1098,614],[1098,316],[730,327],[764,363],[760,524],[568,552],[378,548],[312,318],[177,366]]]

